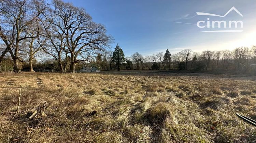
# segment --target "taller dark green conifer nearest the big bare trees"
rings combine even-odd
[[[120,66],[123,64],[124,60],[125,60],[124,52],[121,49],[121,47],[119,47],[117,44],[113,52],[113,63],[115,63],[117,70],[120,70]]]

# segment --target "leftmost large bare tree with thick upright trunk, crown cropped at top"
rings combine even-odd
[[[0,1],[0,36],[13,59],[14,72],[20,72],[20,42],[29,36],[25,31],[36,22],[38,16],[44,11],[45,4],[39,0],[2,0]]]

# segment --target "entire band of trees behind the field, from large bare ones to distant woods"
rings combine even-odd
[[[95,66],[112,69],[245,70],[256,68],[256,46],[201,53],[184,49],[125,57],[106,28],[81,7],[62,0],[0,1],[0,71],[56,69],[61,72]]]

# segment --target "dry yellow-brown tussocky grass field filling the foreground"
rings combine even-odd
[[[256,142],[235,113],[256,119],[255,77],[0,74],[1,143]]]

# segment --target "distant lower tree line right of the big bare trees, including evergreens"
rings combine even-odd
[[[117,50],[118,49],[118,50]],[[193,52],[191,49],[184,49],[178,53],[171,54],[158,52],[152,55],[143,56],[136,52],[130,57],[124,58],[122,49],[117,45],[114,53],[121,51],[120,58],[117,60],[110,58],[105,61],[102,69],[117,68],[121,69],[164,69],[164,70],[239,70],[255,71],[256,69],[256,46],[238,47],[233,50],[211,51],[205,50],[201,53]],[[111,53],[111,52],[110,52]],[[122,59],[122,60],[121,60]],[[102,60],[101,60],[102,61]],[[104,61],[104,60],[103,60]],[[96,61],[96,63],[101,63]],[[115,63],[115,64],[112,64]],[[118,63],[118,64],[116,64]],[[116,66],[115,66],[116,65]],[[113,66],[113,67],[111,67]]]

